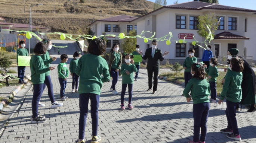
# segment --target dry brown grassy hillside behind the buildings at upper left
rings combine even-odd
[[[51,32],[84,34],[89,23],[101,18],[116,15],[141,16],[151,12],[154,3],[146,0],[1,0],[0,16],[6,22],[29,24],[29,6],[42,3],[42,6],[31,7],[32,24],[51,28]],[[53,14],[53,3],[55,14]],[[97,4],[98,3],[98,4]],[[97,10],[98,5],[98,10]]]

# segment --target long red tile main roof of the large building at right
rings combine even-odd
[[[190,9],[190,10],[202,10],[202,9],[218,9],[218,10],[233,10],[233,11],[243,11],[243,12],[255,12],[256,10],[243,9],[238,7],[224,6],[216,3],[205,3],[201,1],[189,1],[186,3],[173,4],[169,6],[164,6],[171,9]]]

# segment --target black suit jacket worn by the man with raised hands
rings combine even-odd
[[[160,62],[159,61],[163,61],[163,54],[162,51],[158,48],[155,48],[155,55],[154,58],[152,57],[152,47],[148,48],[144,54],[144,56],[142,57],[144,60],[148,59],[148,64],[146,66],[147,70],[152,70],[153,68],[155,70],[159,70],[160,69]]]

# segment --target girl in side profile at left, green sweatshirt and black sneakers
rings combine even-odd
[[[38,42],[34,48],[33,57],[30,59],[31,82],[33,83],[32,118],[31,123],[46,122],[45,116],[38,114],[38,103],[43,93],[45,73],[55,67],[44,67],[44,61],[40,57],[46,53],[46,44]]]

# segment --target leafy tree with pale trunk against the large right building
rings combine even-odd
[[[214,37],[215,30],[218,29],[219,21],[215,15],[215,13],[211,13],[209,15],[202,15],[198,16],[198,35],[202,36],[203,38],[206,38],[207,45],[209,45],[211,39],[209,37],[210,32],[212,32],[212,37]],[[208,28],[207,28],[208,26]],[[209,31],[210,30],[210,31]]]

